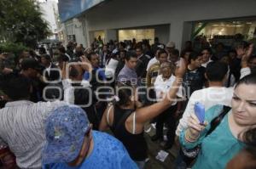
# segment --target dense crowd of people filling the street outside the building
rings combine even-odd
[[[179,51],[157,37],[98,37],[38,49],[0,54],[0,168],[143,169],[148,122],[154,142],[167,128],[162,148],[178,147],[176,168],[256,168],[253,44]]]

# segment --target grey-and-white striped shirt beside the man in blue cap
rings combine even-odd
[[[0,110],[0,145],[8,145],[20,168],[41,168],[44,121],[65,102],[9,102]]]

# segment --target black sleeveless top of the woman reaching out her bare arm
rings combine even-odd
[[[109,108],[111,110],[113,106]],[[108,110],[108,115],[109,115]],[[135,116],[133,121],[133,133],[128,132],[125,128],[126,119],[134,112],[134,110],[120,109],[119,106],[113,107],[113,125],[110,127],[115,138],[118,138],[127,149],[133,161],[144,161],[147,155],[147,143],[142,133],[135,132]],[[108,116],[107,116],[108,118]]]

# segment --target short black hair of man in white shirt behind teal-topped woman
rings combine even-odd
[[[228,65],[216,61],[207,65],[206,74],[210,82],[222,82],[228,72]]]

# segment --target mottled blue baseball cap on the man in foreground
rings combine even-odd
[[[90,122],[87,115],[78,106],[65,105],[53,110],[45,123],[46,144],[42,163],[74,161],[89,130]]]

